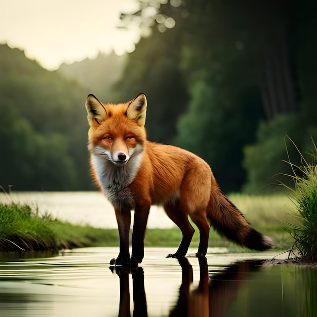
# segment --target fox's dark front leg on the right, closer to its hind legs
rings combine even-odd
[[[131,264],[141,263],[144,257],[144,236],[147,224],[150,204],[136,205],[132,233],[132,256]]]

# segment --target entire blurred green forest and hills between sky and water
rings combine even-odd
[[[0,185],[89,190],[85,101],[148,99],[148,139],[202,156],[225,192],[291,182],[317,140],[317,2],[141,1],[133,53],[48,71],[0,46]],[[286,150],[287,146],[287,150]]]

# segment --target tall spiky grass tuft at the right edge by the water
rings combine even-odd
[[[313,150],[309,153],[311,163],[305,160],[295,143],[291,140],[301,156],[300,166],[290,162],[295,187],[293,192],[296,206],[295,223],[286,223],[286,228],[294,238],[292,251],[304,260],[317,260],[317,147],[312,140]]]

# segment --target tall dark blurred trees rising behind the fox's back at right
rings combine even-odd
[[[187,148],[224,191],[261,192],[317,140],[317,2],[140,1],[117,99],[148,96],[150,139]],[[175,130],[176,128],[176,130]],[[290,182],[283,175],[279,181]],[[274,184],[275,183],[275,184]]]

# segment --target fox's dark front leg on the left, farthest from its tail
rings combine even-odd
[[[116,222],[118,224],[120,237],[120,252],[116,259],[112,259],[110,264],[131,266],[129,252],[129,232],[131,224],[131,211],[114,209]]]

